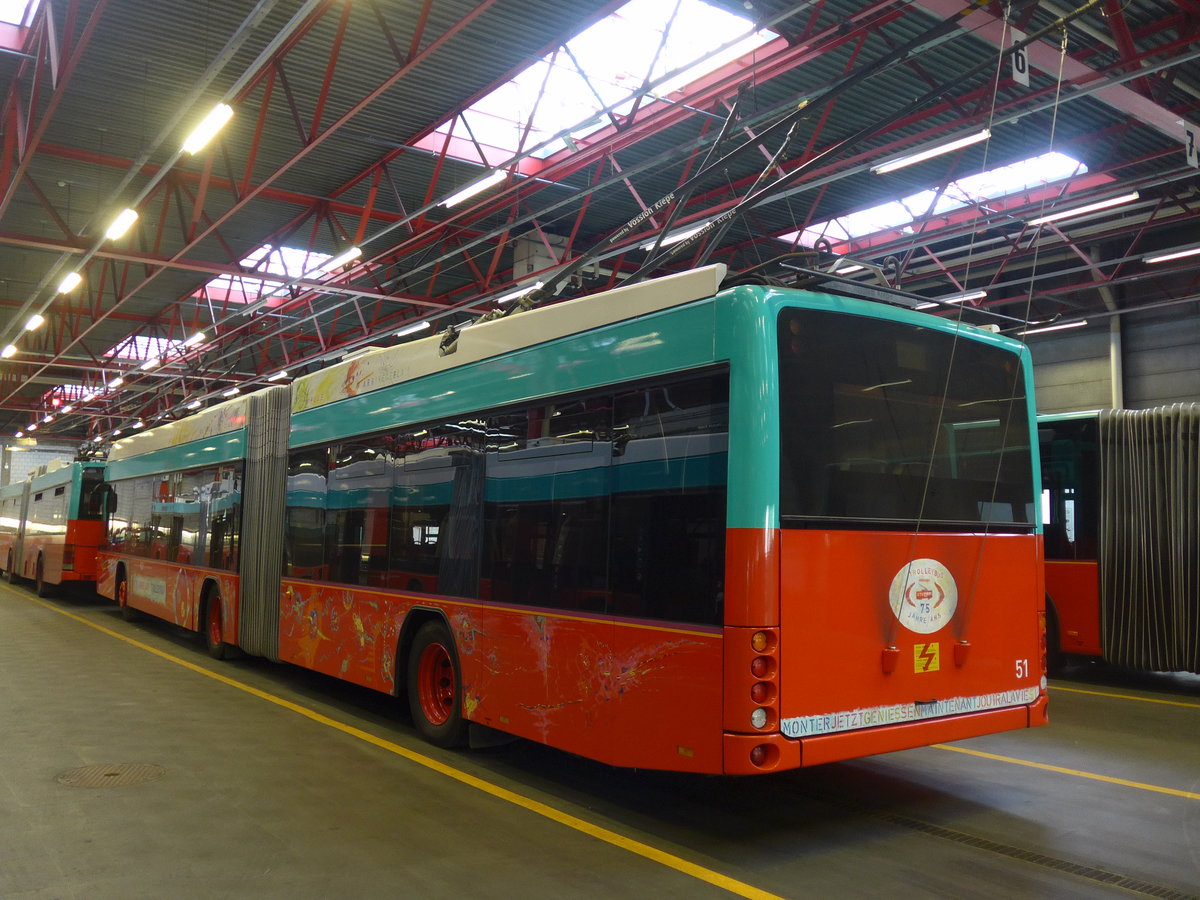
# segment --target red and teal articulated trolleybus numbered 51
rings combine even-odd
[[[121,440],[101,592],[439,745],[760,773],[1044,724],[1025,348],[724,274]]]

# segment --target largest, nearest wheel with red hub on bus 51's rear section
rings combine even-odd
[[[408,654],[408,707],[413,725],[436,746],[461,746],[467,738],[462,718],[462,672],[450,629],[440,619],[416,631]]]

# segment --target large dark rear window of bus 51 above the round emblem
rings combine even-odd
[[[779,379],[785,527],[1033,528],[1016,354],[920,325],[784,310]]]

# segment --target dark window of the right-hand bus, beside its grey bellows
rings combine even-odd
[[[1097,420],[1038,425],[1046,559],[1096,559],[1099,526]]]

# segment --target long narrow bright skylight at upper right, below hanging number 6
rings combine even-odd
[[[1084,174],[1087,174],[1087,167],[1074,157],[1060,152],[1042,154],[956,179],[943,191],[919,191],[899,200],[817,222],[805,228],[803,233],[781,234],[779,239],[791,244],[799,234],[800,246],[814,247],[818,239],[824,238],[834,245],[834,252],[844,253],[858,246],[854,245],[856,241],[864,241],[871,235],[896,230],[911,234],[913,223],[929,215],[946,215],[974,203],[1040,192],[1055,181]]]

